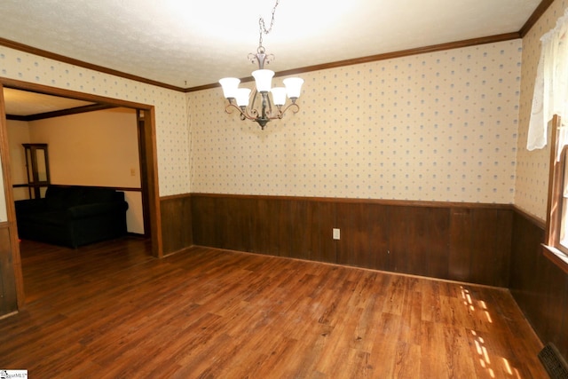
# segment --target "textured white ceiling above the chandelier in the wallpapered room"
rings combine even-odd
[[[282,71],[517,32],[540,0],[280,0]],[[0,37],[178,87],[250,75],[272,0],[2,0]]]

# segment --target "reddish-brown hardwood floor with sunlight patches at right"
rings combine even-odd
[[[548,377],[503,289],[136,239],[21,250],[0,368],[29,377]]]

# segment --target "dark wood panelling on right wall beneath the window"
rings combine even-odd
[[[542,254],[545,226],[516,211],[509,289],[543,343],[568,359],[568,274]]]

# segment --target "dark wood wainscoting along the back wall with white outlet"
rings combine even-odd
[[[162,223],[164,236],[184,230],[193,244],[219,249],[509,284],[509,205],[210,193],[190,198],[191,205],[171,200],[182,208],[170,208],[170,200],[168,206],[162,203],[162,219],[188,224],[185,212],[191,208],[193,225],[169,231]],[[332,238],[333,228],[340,229],[340,240]]]

